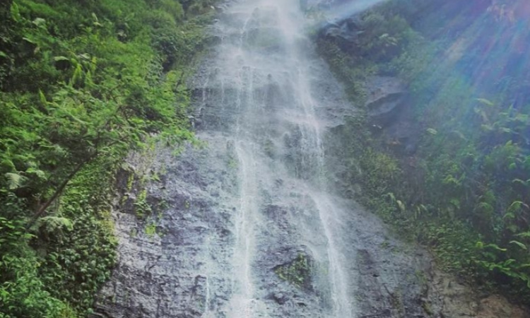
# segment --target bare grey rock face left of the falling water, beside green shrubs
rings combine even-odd
[[[160,215],[139,220],[134,213],[114,213],[119,264],[100,293],[100,317],[201,317],[207,304],[230,294],[223,279],[230,250],[220,247],[232,240],[232,211],[216,197],[234,184],[226,174],[206,183],[214,167],[199,169],[205,156],[183,155],[175,163],[170,151],[161,151],[152,168],[165,169],[165,177],[148,185],[149,201],[164,202]],[[209,293],[214,286],[218,295]]]

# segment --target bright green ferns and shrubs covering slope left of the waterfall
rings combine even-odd
[[[212,1],[0,4],[0,317],[90,312],[125,155],[193,138],[184,78]]]

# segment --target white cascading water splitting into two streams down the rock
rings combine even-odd
[[[298,1],[242,1],[224,13],[218,30],[222,40],[215,66],[208,66],[212,71],[205,80],[208,96],[203,95],[201,112],[203,138],[223,134],[233,145],[232,164],[239,170],[227,317],[274,314],[257,292],[264,288],[253,271],[270,234],[260,212],[266,206],[300,208],[302,201],[308,217],[293,218],[299,223],[293,228],[299,225],[300,230],[293,231],[290,241],[307,249],[314,267],[325,273],[315,274],[320,277],[312,288],[322,293],[326,309],[311,317],[353,317],[348,283],[353,277],[348,277],[336,237],[341,235],[340,219],[323,191],[324,122],[317,116],[311,83],[311,68],[322,66],[315,66]],[[288,192],[271,194],[278,183]]]

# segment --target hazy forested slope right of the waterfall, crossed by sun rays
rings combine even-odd
[[[353,44],[317,37],[360,107],[370,76],[397,77],[408,88],[413,137],[389,139],[367,110],[337,129],[333,139],[342,142],[330,151],[349,158],[348,170],[335,176],[338,189],[430,247],[445,269],[524,302],[529,11],[526,1],[390,1],[352,21]]]

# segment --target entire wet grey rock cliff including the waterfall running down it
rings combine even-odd
[[[446,288],[426,252],[329,191],[323,136],[355,110],[314,54],[298,6],[247,0],[220,16],[212,30],[219,44],[192,83],[201,144],[131,158],[148,173],[121,182],[129,199],[114,211],[119,263],[92,316],[447,318],[497,310],[497,298]],[[375,114],[383,95],[374,93]],[[151,180],[146,192],[141,179]],[[469,304],[478,305],[461,311]]]

